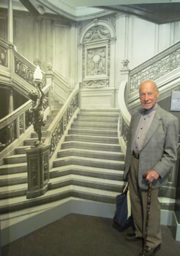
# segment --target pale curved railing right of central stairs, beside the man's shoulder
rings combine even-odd
[[[131,114],[127,109],[124,100],[124,92],[127,81],[122,81],[118,91],[118,103],[119,103],[119,122],[118,122],[118,138],[122,149],[125,151],[128,137],[128,130],[131,122]]]

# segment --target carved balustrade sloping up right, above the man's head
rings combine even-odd
[[[129,93],[138,90],[141,81],[156,80],[180,67],[180,42],[173,44],[163,52],[130,71]]]

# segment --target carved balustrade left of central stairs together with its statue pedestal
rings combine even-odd
[[[27,198],[44,195],[48,190],[49,167],[56,157],[58,145],[80,108],[81,87],[75,87],[65,104],[47,129],[44,144],[27,149],[28,191]]]

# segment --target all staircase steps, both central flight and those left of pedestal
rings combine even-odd
[[[57,111],[47,116],[46,129]],[[115,203],[123,187],[124,155],[119,145],[117,124],[119,110],[81,110],[65,136],[58,157],[50,169],[45,195],[26,199],[26,148],[37,138],[35,132],[5,158],[0,166],[1,214],[38,206],[70,196]]]

